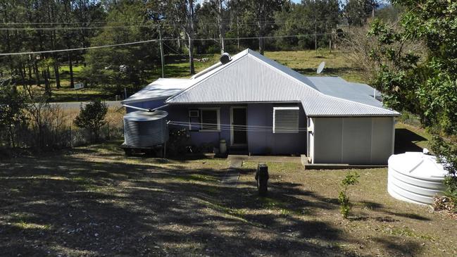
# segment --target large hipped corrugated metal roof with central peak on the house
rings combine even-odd
[[[314,82],[313,82],[314,80]],[[338,77],[306,77],[246,49],[171,96],[167,104],[301,102],[308,116],[392,116],[396,111]],[[346,89],[341,89],[339,87]],[[365,90],[366,92],[366,90]]]

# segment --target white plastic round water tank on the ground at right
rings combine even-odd
[[[410,203],[431,204],[444,191],[443,165],[435,156],[406,152],[389,157],[387,191],[391,196]]]

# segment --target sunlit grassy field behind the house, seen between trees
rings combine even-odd
[[[240,50],[241,51],[241,50]],[[232,53],[237,54],[237,53]],[[196,55],[194,66],[196,73],[217,63],[219,54]],[[265,56],[287,65],[303,75],[316,75],[318,65],[325,61],[325,70],[321,75],[340,76],[351,82],[363,82],[358,75],[358,68],[351,67],[344,58],[342,51],[328,51],[320,49],[318,54],[314,50],[303,51],[267,51]],[[208,61],[204,61],[206,58]],[[185,55],[165,56],[165,77],[190,77],[189,59]],[[83,65],[73,65],[73,77],[75,83],[82,82]],[[89,101],[91,99],[114,100],[115,96],[104,92],[99,88],[90,87],[86,89],[74,90],[70,88],[70,73],[68,65],[61,65],[59,73],[61,75],[61,88],[53,87],[52,101]],[[53,75],[54,73],[51,73]],[[152,82],[161,77],[161,66],[156,65],[153,70],[149,70],[146,80]],[[55,80],[51,80],[55,84]],[[146,85],[146,84],[145,84]],[[133,94],[134,92],[129,92]]]

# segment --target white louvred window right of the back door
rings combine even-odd
[[[299,132],[299,107],[273,107],[273,133]]]

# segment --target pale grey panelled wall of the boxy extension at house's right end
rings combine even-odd
[[[394,118],[313,118],[313,163],[386,164]]]

